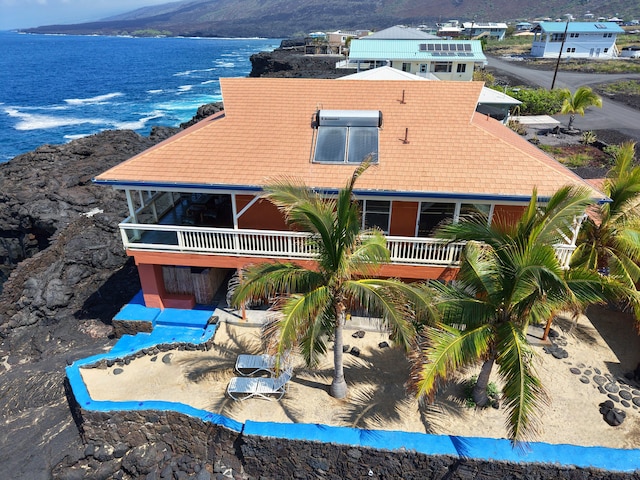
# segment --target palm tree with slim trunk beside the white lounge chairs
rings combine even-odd
[[[345,314],[362,307],[380,315],[392,338],[409,349],[415,329],[403,302],[396,302],[406,285],[395,280],[370,278],[375,269],[389,261],[382,232],[362,230],[359,207],[352,198],[357,178],[368,162],[354,172],[337,198],[323,198],[303,184],[282,180],[265,189],[265,197],[279,207],[287,221],[313,234],[317,269],[293,263],[263,263],[247,268],[233,295],[233,303],[283,295],[276,308],[279,319],[268,329],[281,356],[299,346],[309,366],[317,364],[327,351],[327,339],[334,338],[334,375],[330,393],[344,398],[347,384],[343,368]]]

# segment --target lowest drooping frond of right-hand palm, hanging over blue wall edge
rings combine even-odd
[[[513,323],[498,326],[498,372],[504,380],[502,394],[508,414],[507,431],[514,444],[539,433],[547,395],[532,366],[533,351],[525,334]]]

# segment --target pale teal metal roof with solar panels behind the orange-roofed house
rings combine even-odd
[[[437,50],[430,50],[434,45]],[[451,46],[456,48],[455,51]],[[447,48],[445,51],[444,48]],[[349,48],[350,60],[430,60],[484,62],[479,40],[375,40],[355,39]]]

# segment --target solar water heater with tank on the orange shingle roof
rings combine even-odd
[[[378,161],[377,110],[319,110],[316,114],[314,162],[361,163]]]

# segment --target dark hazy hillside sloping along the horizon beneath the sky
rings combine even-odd
[[[571,13],[583,18],[638,18],[637,0],[183,0],[144,7],[99,22],[49,25],[30,33],[169,36],[290,37],[301,32],[349,28],[381,29],[449,19],[508,21]]]

